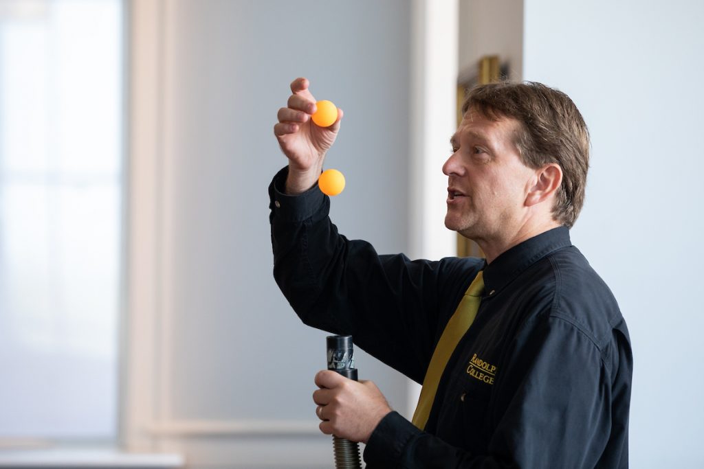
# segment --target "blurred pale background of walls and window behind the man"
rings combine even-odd
[[[327,334],[272,277],[277,110],[299,76],[344,109],[341,233],[456,255],[441,165],[487,57],[589,125],[572,241],[631,332],[631,467],[704,467],[703,24],[698,0],[0,0],[0,467],[332,467]],[[419,387],[357,353],[410,416]]]

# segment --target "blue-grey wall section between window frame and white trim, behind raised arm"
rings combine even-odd
[[[167,236],[180,363],[173,411],[182,418],[261,418],[272,402],[279,418],[303,418],[312,409],[325,334],[303,326],[275,285],[268,223],[267,186],[287,164],[272,127],[291,79],[308,77],[313,94],[345,110],[326,162],[347,179],[332,204],[341,232],[381,250],[406,244],[406,214],[396,207],[403,205],[408,153],[408,9],[401,2],[319,7],[172,4],[165,44],[172,48],[165,78],[173,178]],[[389,111],[401,118],[383,126],[370,118]],[[358,365],[393,395],[396,378],[361,355]],[[287,392],[275,383],[287,383]]]

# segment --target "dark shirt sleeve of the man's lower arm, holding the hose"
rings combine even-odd
[[[485,455],[470,454],[387,415],[365,448],[376,468],[594,468],[610,434],[608,366],[574,324],[555,316],[524,326],[510,349]],[[510,391],[507,389],[509,388]]]

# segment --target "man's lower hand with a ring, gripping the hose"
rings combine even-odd
[[[366,443],[379,422],[391,412],[389,403],[371,381],[353,381],[334,371],[315,375],[320,387],[313,392],[318,404],[316,415],[322,420],[320,431],[353,442]]]

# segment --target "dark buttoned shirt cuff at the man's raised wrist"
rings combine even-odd
[[[272,211],[272,219],[276,217],[281,221],[300,223],[313,217],[323,205],[329,207],[329,197],[320,191],[318,184],[298,195],[287,194],[288,175],[289,167],[282,168],[269,185],[269,208]]]

